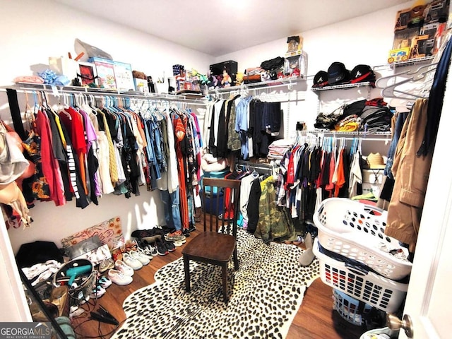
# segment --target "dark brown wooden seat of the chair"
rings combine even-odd
[[[184,246],[182,254],[191,258],[202,258],[203,261],[230,260],[235,248],[235,238],[232,235],[217,232],[198,234],[191,242]],[[215,251],[212,251],[215,249]]]

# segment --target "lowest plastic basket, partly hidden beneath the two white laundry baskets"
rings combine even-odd
[[[338,311],[338,314],[349,323],[356,326],[364,325],[364,317],[369,314],[372,307],[364,304],[362,309],[359,309],[359,300],[346,295],[339,290],[333,289],[333,309]]]

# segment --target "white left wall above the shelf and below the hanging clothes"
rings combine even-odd
[[[0,0],[1,63],[0,87],[12,85],[13,78],[32,75],[35,65],[47,65],[49,57],[66,56],[74,52],[74,40],[92,44],[112,54],[117,61],[131,64],[132,69],[143,71],[154,80],[172,76],[172,65],[183,64],[205,72],[213,63],[213,57],[147,35],[138,30],[124,28],[107,20],[75,11],[54,1]],[[165,29],[165,28],[162,28]],[[41,66],[42,68],[42,66]],[[52,97],[51,97],[52,99]],[[31,100],[31,99],[30,99]],[[23,95],[19,105],[25,109]],[[11,122],[11,114],[5,92],[0,92],[0,117]],[[140,187],[141,196],[109,194],[100,198],[99,206],[91,204],[81,210],[75,201],[56,207],[53,202],[37,202],[30,209],[32,227],[8,230],[13,251],[20,244],[35,240],[52,241],[61,246],[60,239],[78,230],[95,225],[119,215],[125,234],[136,228],[164,225],[159,191],[146,191]]]

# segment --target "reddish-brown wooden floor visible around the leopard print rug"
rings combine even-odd
[[[187,238],[187,242],[193,239],[198,233],[198,230],[192,232],[191,237]],[[301,246],[303,247],[303,245]],[[111,287],[108,287],[107,293],[97,299],[97,301],[90,300],[88,304],[83,305],[83,308],[86,310],[85,315],[73,320],[73,326],[78,334],[78,338],[109,338],[115,331],[115,326],[88,320],[89,311],[96,310],[100,304],[119,321],[124,321],[126,319],[122,310],[124,299],[133,291],[154,283],[155,272],[167,263],[181,257],[182,248],[177,247],[176,251],[167,254],[167,256],[155,256],[147,266],[143,266],[141,270],[135,271],[133,282],[130,285],[117,286],[113,284]],[[331,287],[323,284],[320,278],[314,280],[314,283],[307,289],[302,306],[299,308],[294,321],[292,321],[286,338],[359,339],[359,336],[364,330],[343,320],[336,311],[333,311],[332,305]],[[103,335],[103,337],[100,335]]]

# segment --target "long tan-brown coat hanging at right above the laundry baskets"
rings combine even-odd
[[[403,125],[391,171],[395,183],[388,207],[385,234],[410,245],[415,251],[417,234],[429,180],[432,153],[418,157],[427,124],[427,99],[417,99]]]

